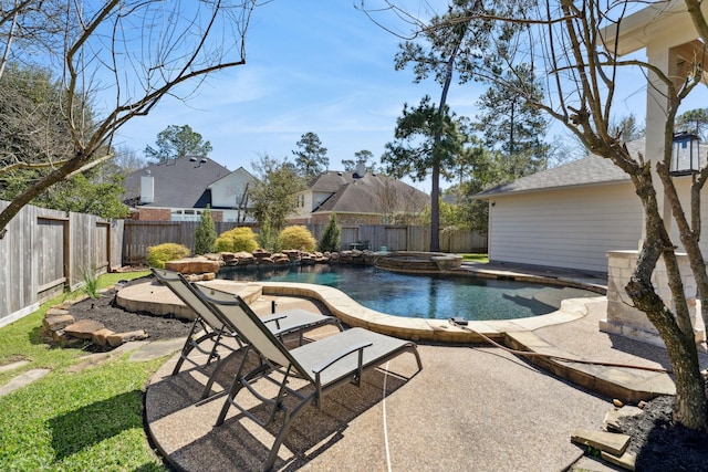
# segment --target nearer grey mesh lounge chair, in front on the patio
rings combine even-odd
[[[275,413],[282,410],[283,423],[270,449],[264,464],[266,470],[272,469],[278,458],[278,450],[288,436],[293,420],[308,405],[314,402],[321,408],[321,400],[325,394],[347,382],[360,386],[363,370],[377,367],[404,352],[415,356],[418,364],[416,374],[423,369],[415,343],[364,328],[346,329],[288,350],[241,297],[236,296],[232,301],[217,300],[210,297],[201,286],[197,286],[196,292],[212,306],[230,329],[236,331],[242,339],[247,340],[246,349],[254,349],[263,359],[259,366],[244,373],[244,355],[216,426],[223,423],[231,406],[262,428],[268,427],[274,420]],[[269,373],[272,371],[280,373],[281,376],[271,377]],[[261,377],[268,377],[278,386],[278,396],[274,399],[266,398],[256,390],[253,380]],[[305,380],[312,387],[312,392],[303,394],[289,387],[291,377]],[[263,421],[257,418],[248,408],[237,402],[236,397],[242,387],[270,408],[268,419]],[[283,401],[287,396],[298,398],[298,405],[289,409]]]

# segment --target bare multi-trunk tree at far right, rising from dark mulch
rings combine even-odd
[[[629,2],[621,3],[628,7]],[[606,42],[613,38],[612,30],[622,24],[626,11],[622,8],[606,10],[606,3],[595,0],[563,1],[555,11],[551,10],[550,3],[543,7],[535,18],[543,19],[542,14],[549,12],[552,12],[552,17],[550,21],[537,23],[543,27],[539,28],[535,39],[544,45],[541,56],[552,77],[555,99],[535,101],[534,106],[563,123],[587,149],[612,160],[629,176],[644,208],[645,237],[637,266],[625,291],[634,306],[647,315],[666,344],[676,376],[675,419],[688,428],[705,428],[705,381],[700,375],[694,328],[676,256],[679,244],[673,241],[667,230],[673,219],[679,229],[680,243],[688,254],[704,306],[702,316],[707,319],[708,276],[699,239],[700,190],[708,178],[708,169],[694,179],[687,209],[679,200],[675,181],[669,176],[676,113],[681,102],[700,83],[701,64],[694,55],[684,63],[683,70],[667,73],[655,64],[622,59],[617,35],[614,42]],[[695,14],[702,18],[700,10]],[[545,40],[540,34],[544,34]],[[696,52],[701,55],[699,51]],[[631,155],[621,130],[613,126],[613,98],[617,90],[615,77],[618,70],[629,66],[641,67],[655,77],[656,82],[650,81],[649,86],[666,101],[664,153],[656,161],[645,159],[643,155]],[[665,195],[670,204],[670,216],[665,216],[663,211],[663,202],[657,197],[660,195]],[[665,217],[669,220],[665,221]],[[674,310],[666,306],[652,283],[652,275],[660,260],[667,270]]]

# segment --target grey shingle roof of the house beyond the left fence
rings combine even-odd
[[[143,207],[205,208],[211,201],[209,185],[230,171],[209,158],[169,159],[153,164],[125,178],[126,199],[139,201],[140,177],[149,171],[154,178],[155,195],[152,203]]]

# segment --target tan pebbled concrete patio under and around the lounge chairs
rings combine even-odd
[[[329,311],[319,301],[291,295],[262,295],[252,306],[269,313],[273,300],[279,311]],[[507,333],[506,342],[561,357],[668,368],[662,347],[600,333],[605,304],[602,296],[573,303],[573,313],[555,313],[550,323],[537,319]],[[326,336],[326,329],[310,337]],[[481,343],[420,340],[418,348],[424,365],[418,375],[410,377],[415,360],[404,354],[366,374],[362,388],[345,386],[331,395],[322,411],[308,408],[280,449],[275,468],[565,470],[584,453],[571,442],[572,432],[602,429],[613,398],[637,401],[674,391],[670,377],[656,371],[569,361],[539,368]],[[194,369],[170,376],[175,360],[163,366],[147,389],[146,420],[155,445],[179,470],[259,470],[272,431],[233,409],[215,428],[223,397],[199,402],[206,377]],[[705,356],[701,363],[708,365]],[[220,384],[228,388],[225,370]]]

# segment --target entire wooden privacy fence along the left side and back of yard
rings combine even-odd
[[[8,201],[0,200],[0,210]],[[98,274],[121,265],[144,264],[147,248],[164,242],[194,251],[197,222],[105,221],[91,214],[66,213],[25,206],[0,239],[0,327],[28,315],[39,304],[83,283],[83,271]],[[239,225],[216,222],[217,234]],[[243,224],[240,224],[243,225]],[[258,232],[258,227],[248,224]],[[324,224],[308,224],[320,240]],[[343,225],[340,249],[366,241],[372,250],[427,251],[429,227],[384,224]],[[471,231],[441,233],[445,252],[486,252],[487,237]]]

